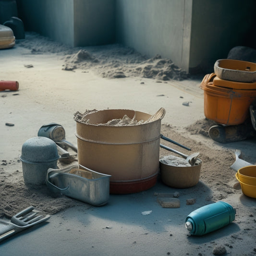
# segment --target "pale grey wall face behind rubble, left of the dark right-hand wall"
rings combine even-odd
[[[116,39],[188,70],[192,0],[116,0]]]

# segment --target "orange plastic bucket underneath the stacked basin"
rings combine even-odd
[[[249,117],[249,108],[256,98],[256,90],[216,86],[213,82],[215,77],[215,73],[207,74],[200,84],[204,90],[206,118],[226,125],[243,123]]]

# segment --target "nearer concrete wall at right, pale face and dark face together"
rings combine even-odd
[[[187,72],[213,72],[233,47],[256,47],[255,10],[255,0],[116,0],[116,38]]]

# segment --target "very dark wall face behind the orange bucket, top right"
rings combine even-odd
[[[255,0],[193,0],[190,72],[213,72],[235,46],[256,47]]]

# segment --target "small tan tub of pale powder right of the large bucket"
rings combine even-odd
[[[160,159],[161,180],[174,188],[189,188],[199,182],[202,161],[196,159],[195,165],[184,158],[165,156]]]

